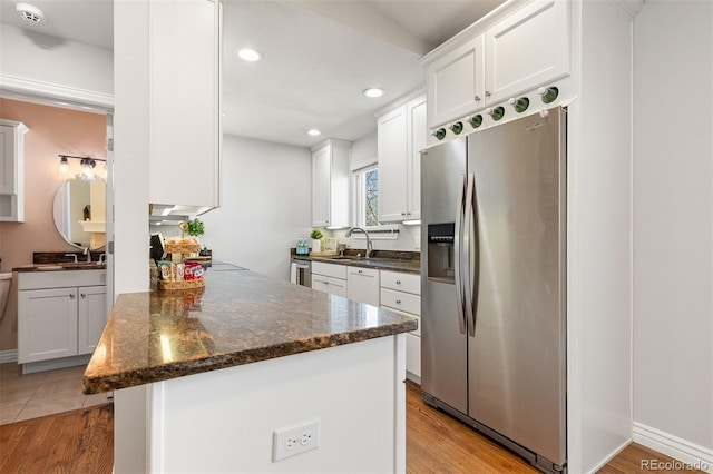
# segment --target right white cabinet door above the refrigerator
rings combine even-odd
[[[489,103],[569,73],[568,1],[536,1],[486,31]]]

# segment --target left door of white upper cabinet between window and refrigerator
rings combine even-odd
[[[377,120],[379,157],[379,221],[407,218],[407,107],[401,106]]]

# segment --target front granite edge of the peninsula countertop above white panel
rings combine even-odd
[[[403,323],[387,324],[379,327],[356,329],[348,333],[321,335],[306,339],[290,340],[271,346],[262,346],[241,350],[237,353],[217,354],[204,358],[185,361],[180,363],[163,364],[159,366],[140,369],[129,369],[111,375],[84,376],[84,393],[87,395],[110,392],[121,388],[130,388],[155,382],[169,381],[172,378],[221,368],[235,367],[272,358],[336,347],[346,344],[360,343],[379,337],[393,336],[401,333],[410,333],[418,329],[416,318]]]

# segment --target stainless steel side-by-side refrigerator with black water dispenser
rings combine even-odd
[[[423,399],[566,470],[566,110],[421,154]]]

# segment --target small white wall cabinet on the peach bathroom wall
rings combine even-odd
[[[21,121],[0,119],[0,221],[25,221],[25,134]]]

